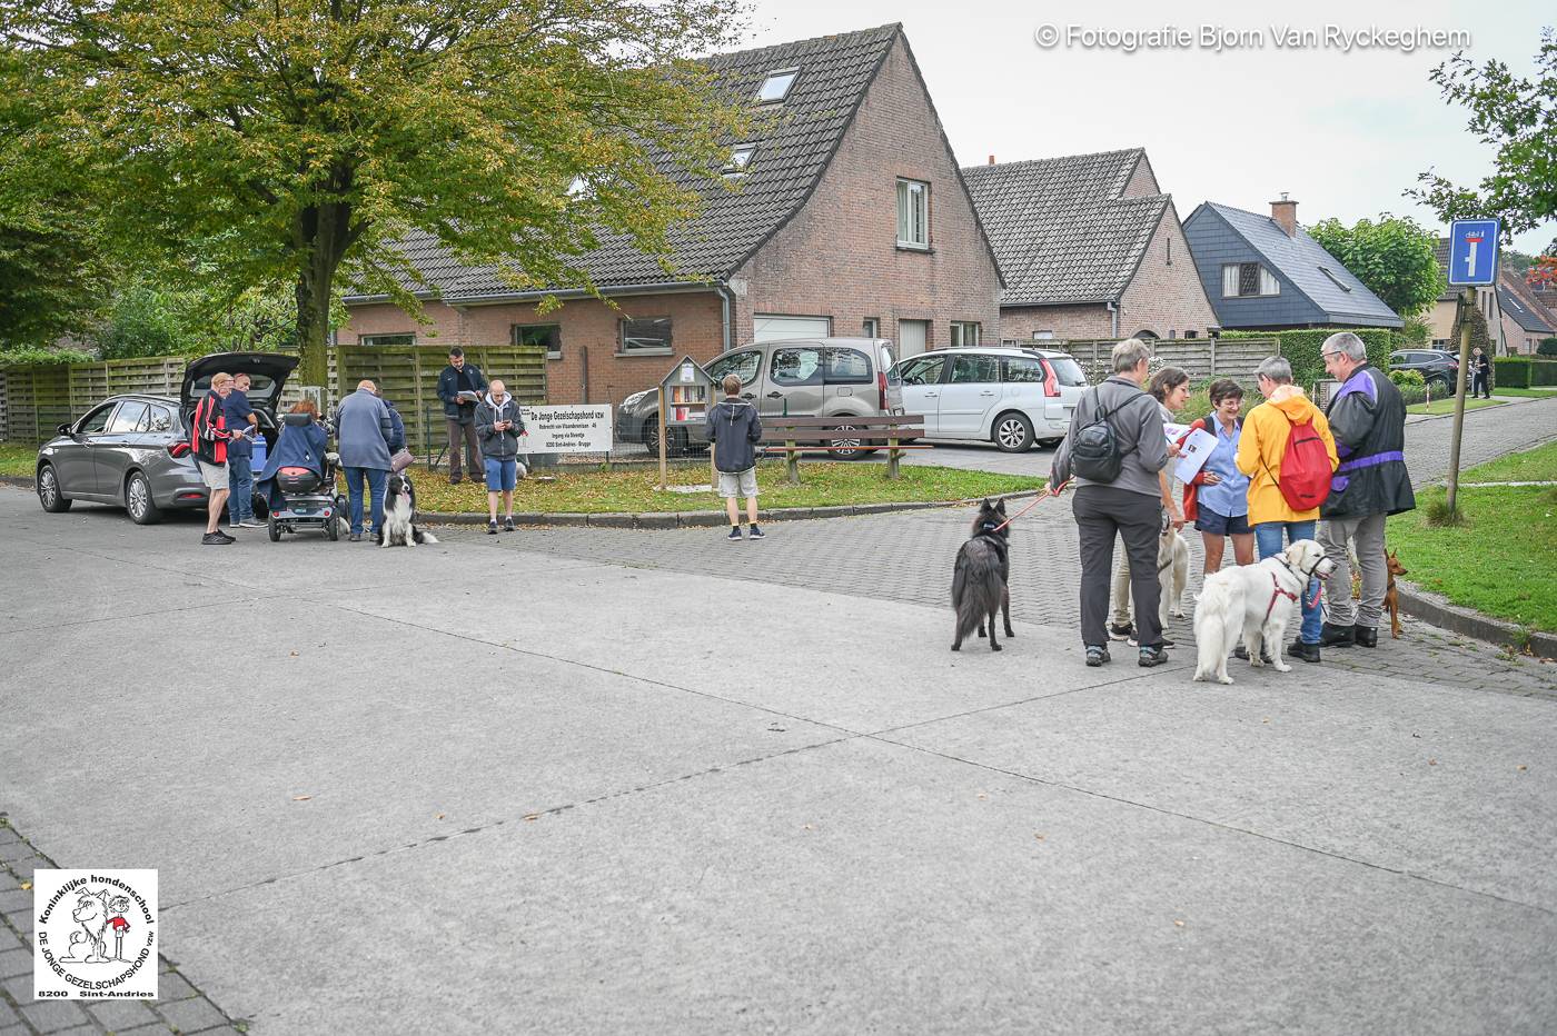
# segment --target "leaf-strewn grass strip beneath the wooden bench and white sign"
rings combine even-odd
[[[545,474],[553,474],[547,471]],[[514,492],[514,510],[559,512],[671,512],[716,510],[724,501],[701,493],[660,492],[659,467],[631,467],[606,471],[596,467],[557,468],[556,479],[525,479]],[[444,473],[413,471],[416,502],[425,510],[484,512],[486,490],[472,482],[450,485]],[[708,464],[671,465],[671,485],[707,485]],[[895,482],[886,479],[886,465],[875,462],[800,462],[800,485],[789,485],[785,465],[757,468],[758,499],[763,507],[830,507],[839,504],[884,504],[905,501],[958,501],[993,493],[1042,488],[1040,478],[961,471],[958,468],[902,468]]]

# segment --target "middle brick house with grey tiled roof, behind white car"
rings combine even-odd
[[[1216,324],[1143,148],[962,170],[1000,260],[1001,338],[1197,338]]]

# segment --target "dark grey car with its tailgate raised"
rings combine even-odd
[[[296,356],[216,353],[190,361],[179,398],[128,394],[111,397],[37,448],[37,499],[44,510],[70,510],[75,501],[111,504],[149,526],[174,507],[204,507],[206,482],[190,454],[190,418],[216,372],[246,372],[249,403],[268,443],[276,442],[276,400]],[[265,501],[255,498],[257,515]]]

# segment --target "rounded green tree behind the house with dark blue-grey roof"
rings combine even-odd
[[[1378,222],[1358,219],[1351,227],[1325,219],[1308,235],[1401,317],[1417,316],[1443,294],[1437,236],[1408,216],[1383,213]]]

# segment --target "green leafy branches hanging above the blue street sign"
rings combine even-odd
[[[1541,30],[1534,76],[1517,76],[1501,61],[1478,68],[1456,53],[1429,78],[1448,103],[1470,109],[1467,128],[1496,156],[1493,171],[1474,188],[1428,170],[1417,177],[1423,187],[1406,196],[1445,222],[1496,216],[1510,236],[1557,219],[1557,33]],[[1557,252],[1557,240],[1546,250]]]

